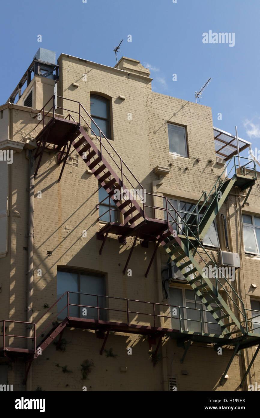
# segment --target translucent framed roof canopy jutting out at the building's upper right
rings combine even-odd
[[[252,143],[242,139],[236,138],[235,135],[231,135],[221,129],[213,127],[214,139],[215,139],[215,150],[217,157],[224,158],[225,161],[230,160],[233,155],[237,154],[237,139],[239,153],[246,148],[250,148]]]

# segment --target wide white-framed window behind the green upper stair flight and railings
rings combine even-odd
[[[177,230],[176,222],[174,222],[174,219],[176,219],[176,213],[174,209],[176,209],[177,212],[179,212],[180,217],[182,217],[182,219],[185,222],[187,221],[189,228],[192,230],[192,232],[194,232],[195,229],[197,228],[197,219],[195,215],[192,215],[192,216],[189,216],[189,215],[194,211],[194,208],[196,205],[194,203],[190,203],[190,202],[179,200],[179,199],[168,198],[168,201],[170,203],[170,204],[167,203],[167,208],[169,211],[169,222],[172,224],[173,229]],[[164,199],[164,208],[166,208],[165,199]],[[198,221],[202,219],[204,210],[205,209],[203,208],[202,211],[199,213]],[[199,207],[197,206],[195,212],[198,213],[198,211],[199,211]],[[167,219],[166,211],[164,211],[164,219]],[[182,228],[181,219],[177,217],[176,220],[179,224],[179,227]],[[217,225],[216,225],[215,220],[212,222],[209,229],[207,230],[207,234],[203,238],[202,244],[206,245],[207,247],[220,248],[220,242],[219,242],[219,238],[217,234]]]

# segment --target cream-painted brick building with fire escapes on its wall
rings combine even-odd
[[[233,391],[260,381],[255,356],[240,387],[260,344],[259,165],[241,139],[246,158],[234,160],[236,139],[213,129],[210,107],[152,92],[151,81],[134,59],[112,68],[61,54],[57,66],[40,49],[0,106],[0,384]],[[114,183],[111,171],[100,180],[108,167]],[[122,178],[146,201],[113,199]],[[195,280],[221,250],[238,255],[231,280]]]

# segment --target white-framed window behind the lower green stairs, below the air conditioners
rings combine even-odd
[[[196,296],[196,301],[195,301]],[[221,327],[207,311],[206,307],[193,290],[185,288],[169,288],[169,305],[171,306],[172,329],[185,331],[203,332],[206,334],[221,335]],[[172,308],[177,306],[177,313],[173,315]],[[216,307],[217,305],[212,304]],[[218,313],[218,311],[217,311]],[[174,316],[177,318],[175,319]],[[181,318],[181,319],[179,319]]]

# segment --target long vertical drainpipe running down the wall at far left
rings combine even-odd
[[[27,261],[27,301],[26,321],[33,322],[33,204],[34,204],[34,158],[31,150],[26,150],[26,158],[29,160],[29,185],[28,185],[28,261]],[[27,336],[32,337],[34,330],[28,328]],[[32,348],[32,341],[27,340],[28,349]],[[28,367],[28,363],[27,363]],[[26,391],[32,390],[32,366],[26,380]]]

